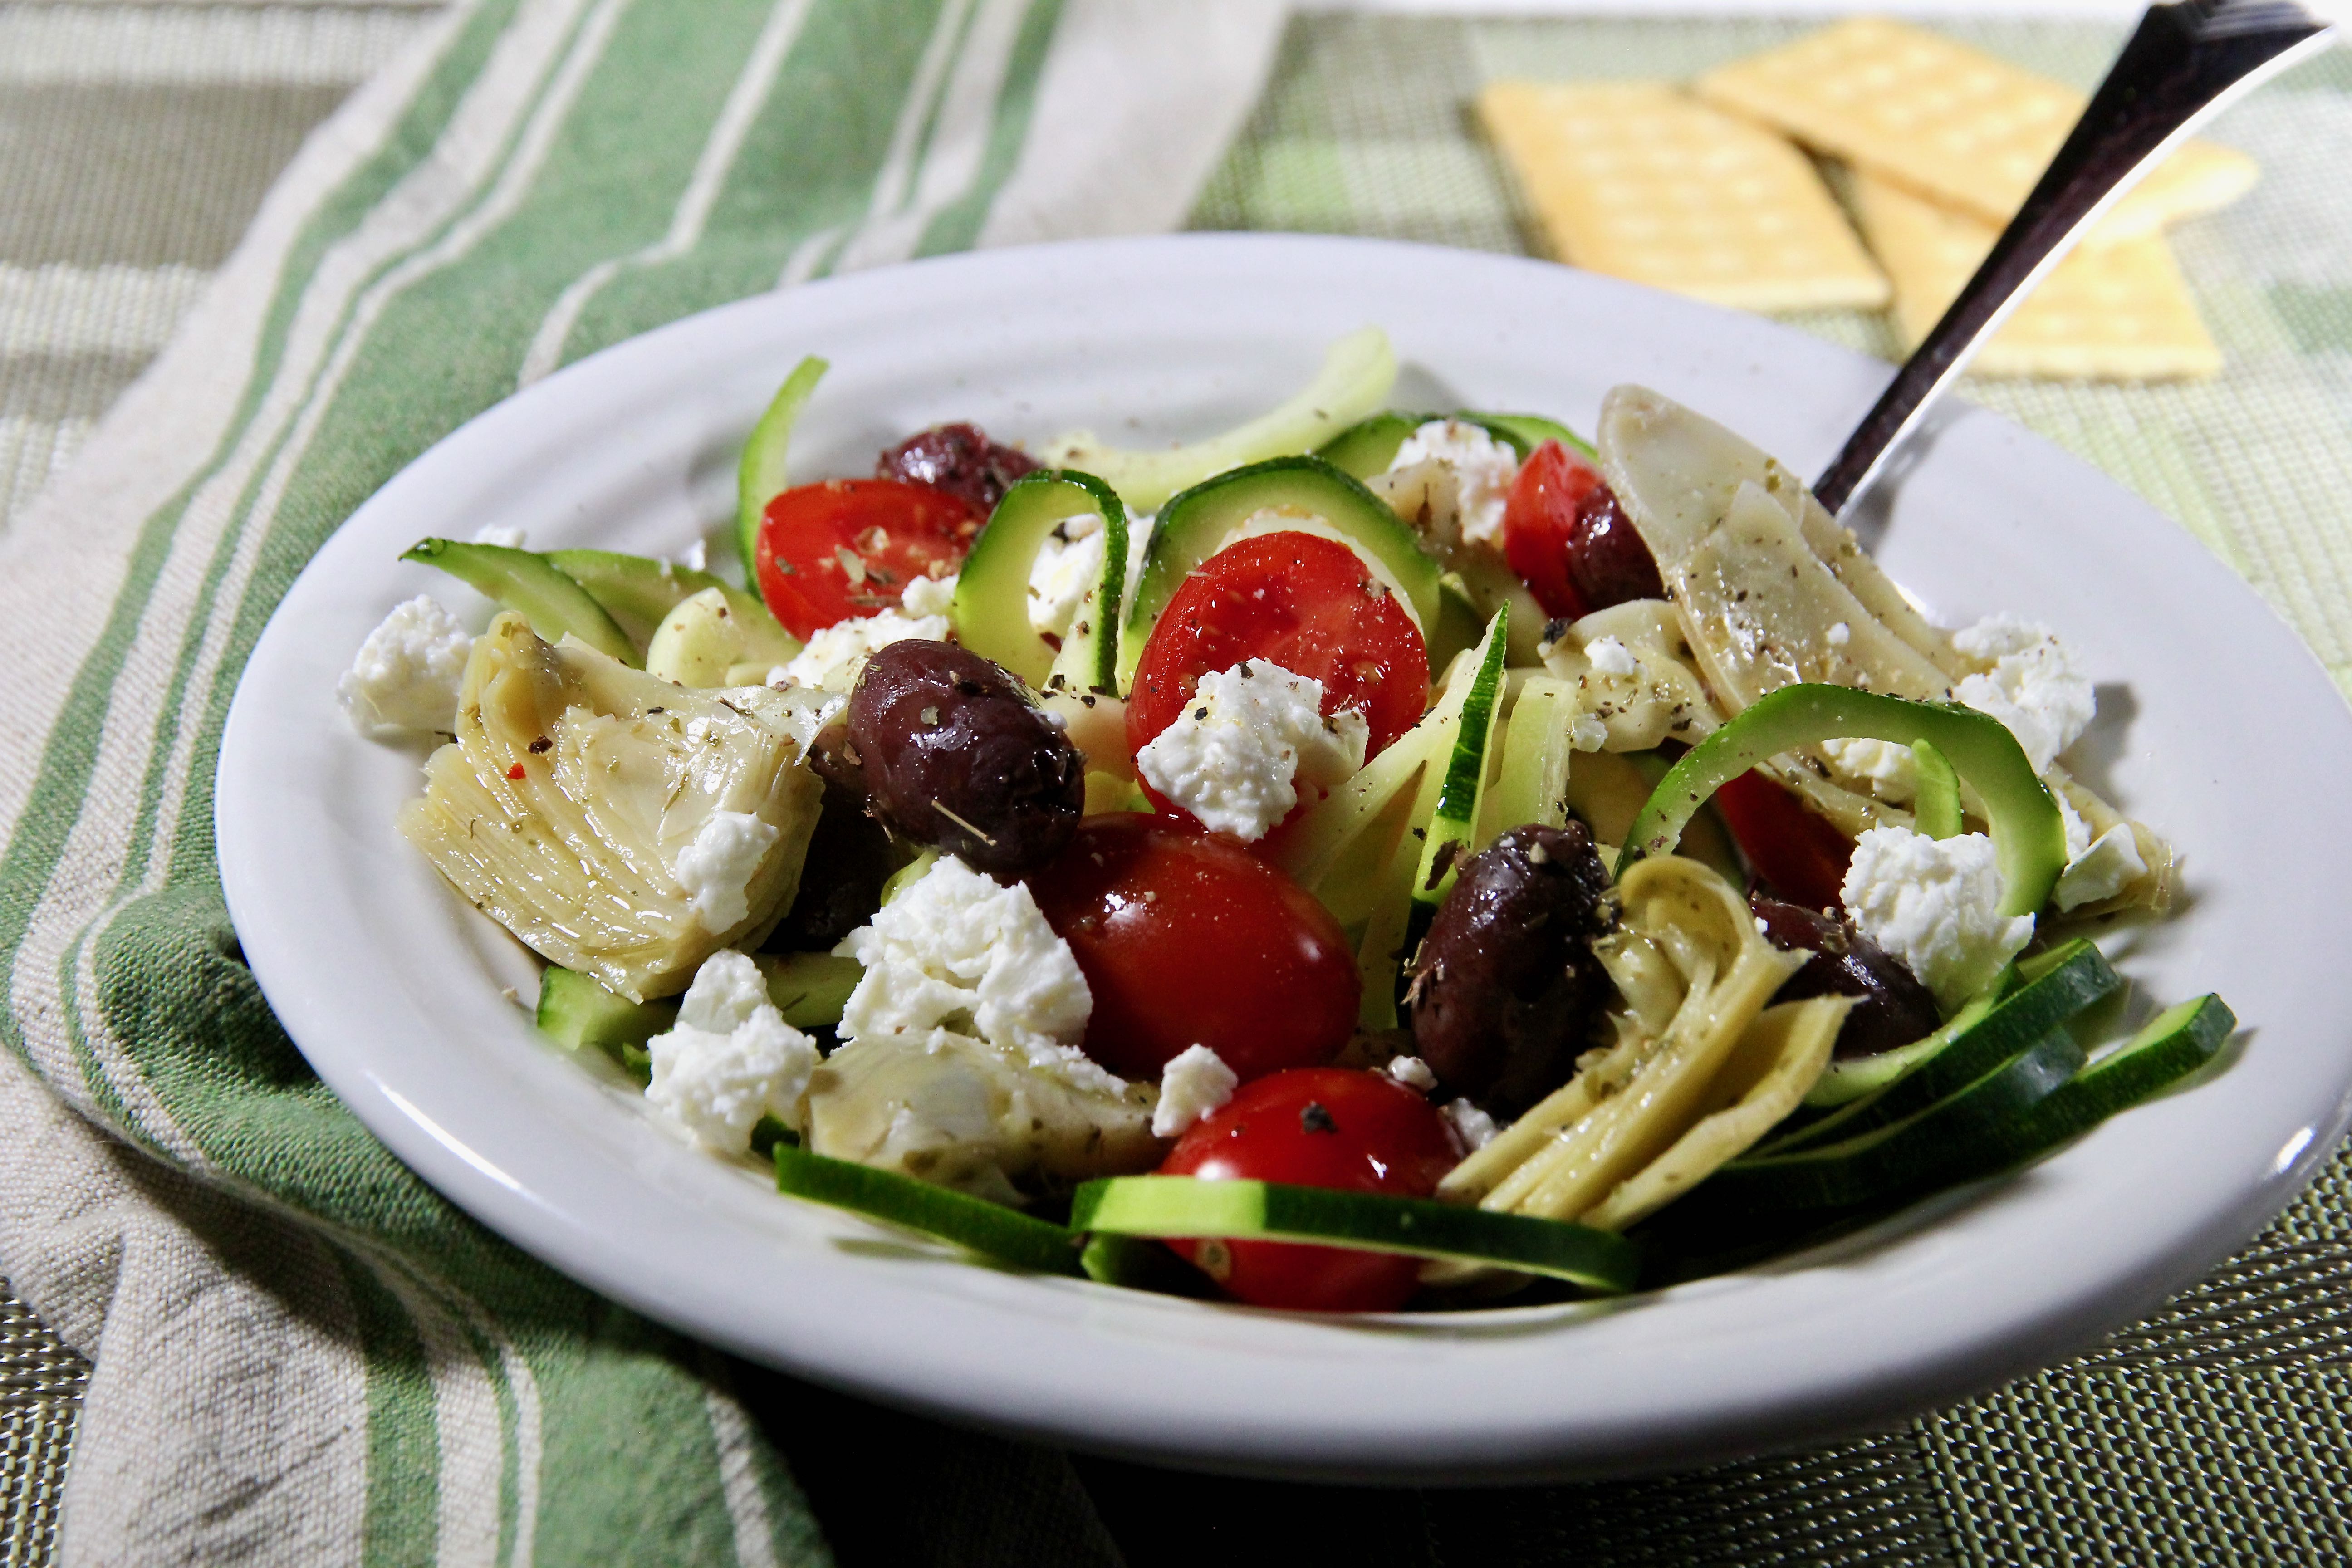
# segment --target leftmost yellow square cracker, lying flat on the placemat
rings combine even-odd
[[[1795,146],[1663,82],[1494,82],[1479,115],[1552,252],[1740,310],[1870,310],[1886,277]]]

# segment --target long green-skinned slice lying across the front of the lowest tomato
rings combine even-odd
[[[1489,1262],[1611,1293],[1630,1291],[1639,1272],[1639,1255],[1630,1241],[1590,1225],[1371,1192],[1192,1175],[1115,1175],[1084,1182],[1070,1201],[1070,1229],[1322,1241],[1371,1253]]]

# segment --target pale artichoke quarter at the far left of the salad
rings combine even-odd
[[[689,691],[515,614],[475,639],[456,741],[426,762],[400,830],[482,912],[635,1001],[687,987],[720,947],[769,933],[800,886],[823,785],[802,762],[816,691]],[[776,830],[713,931],[677,856],[717,811]]]

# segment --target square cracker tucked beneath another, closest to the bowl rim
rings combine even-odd
[[[1875,174],[1853,179],[1870,249],[1896,287],[1903,353],[1919,346],[1976,273],[1999,230]],[[2171,381],[2220,371],[2161,235],[2077,249],[2002,322],[1971,360],[1978,376]]]

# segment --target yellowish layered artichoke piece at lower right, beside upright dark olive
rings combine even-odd
[[[1621,898],[1621,929],[1597,943],[1623,1001],[1618,1044],[1456,1166],[1442,1197],[1630,1225],[1762,1138],[1828,1065],[1844,1006],[1764,1023],[1804,954],[1766,943],[1729,882],[1661,856]]]

